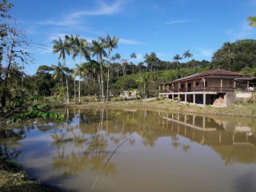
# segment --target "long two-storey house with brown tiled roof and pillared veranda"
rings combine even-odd
[[[165,82],[159,86],[159,96],[203,105],[229,106],[235,98],[251,97],[256,78],[228,70],[210,70]]]

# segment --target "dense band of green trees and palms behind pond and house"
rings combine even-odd
[[[98,101],[117,98],[123,90],[138,90],[140,97],[158,95],[158,86],[176,78],[198,72],[223,69],[256,75],[256,40],[242,39],[224,42],[213,54],[212,60],[197,61],[190,50],[173,55],[172,61],[161,61],[152,50],[144,55],[144,61],[134,63],[136,53],[129,59],[120,54],[116,36],[99,37],[88,42],[79,35],[67,34],[53,41],[53,54],[59,62],[55,65],[38,66],[34,75],[24,73],[26,64],[37,64],[26,51],[30,42],[26,33],[19,30],[16,20],[8,11],[13,5],[0,2],[0,95],[1,105],[14,98],[28,95],[53,96],[69,103],[81,102],[81,98],[94,95]],[[74,67],[66,66],[66,58],[72,58]],[[84,62],[86,61],[86,62]]]

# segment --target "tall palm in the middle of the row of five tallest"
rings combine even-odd
[[[77,46],[80,53],[80,64],[79,69],[82,69],[82,56],[90,61],[90,43],[84,38],[79,38],[77,40]],[[79,86],[78,86],[78,103],[81,102],[81,73],[79,73]]]

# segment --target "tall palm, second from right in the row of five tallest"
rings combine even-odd
[[[92,56],[97,55],[98,62],[100,64],[100,74],[101,74],[101,88],[102,88],[102,102],[104,102],[104,88],[103,88],[103,70],[102,70],[102,57],[107,57],[106,51],[106,43],[104,38],[98,38],[97,40],[92,41],[91,50],[93,52]]]

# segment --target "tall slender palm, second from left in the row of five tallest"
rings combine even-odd
[[[66,35],[66,39],[69,43],[69,46],[70,46],[70,53],[72,53],[72,58],[74,60],[74,71],[75,71],[75,58],[78,56],[78,53],[79,53],[79,49],[78,49],[78,35],[76,35],[75,37],[73,36],[73,34],[71,34],[70,36]],[[76,99],[77,99],[77,96],[76,96],[76,83],[75,83],[75,78],[76,78],[76,75],[74,73],[74,102],[76,102]]]

